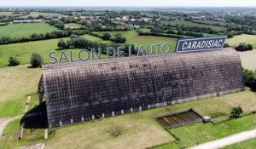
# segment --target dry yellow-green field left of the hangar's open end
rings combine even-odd
[[[37,92],[42,70],[28,66],[0,68],[0,117],[14,117],[24,112],[26,95]]]

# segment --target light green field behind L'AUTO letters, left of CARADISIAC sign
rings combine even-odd
[[[147,31],[147,29],[145,29]],[[97,32],[97,33],[103,33],[103,32]],[[128,44],[135,44],[137,46],[139,45],[148,45],[149,48],[151,44],[161,44],[161,43],[168,43],[172,46],[172,51],[174,51],[177,38],[172,37],[154,37],[154,36],[138,36],[136,31],[128,31],[128,32],[110,32],[113,36],[116,33],[122,34],[124,37],[126,37],[126,43]]]

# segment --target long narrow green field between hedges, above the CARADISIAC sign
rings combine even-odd
[[[226,28],[222,26],[210,26],[210,25],[202,25],[186,20],[173,20],[173,21],[161,21],[161,24],[163,25],[172,25],[172,26],[190,26],[190,27],[206,27],[206,28],[211,28],[212,30],[215,31],[225,31]]]

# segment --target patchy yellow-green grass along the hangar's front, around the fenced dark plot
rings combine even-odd
[[[13,132],[7,133],[3,140],[0,140],[0,148],[12,148],[11,146],[24,146],[37,142],[44,142],[46,148],[84,148],[84,146],[86,148],[147,148],[152,146],[178,148],[178,146],[189,146],[190,144],[186,140],[191,140],[193,145],[196,144],[196,140],[199,140],[192,140],[187,136],[188,131],[196,134],[195,138],[202,137],[201,141],[206,141],[255,128],[256,115],[224,121],[229,117],[232,107],[238,105],[242,107],[245,114],[255,111],[256,93],[247,89],[231,95],[222,95],[124,116],[77,123],[53,129],[48,140],[42,138],[44,133],[39,133],[42,131],[41,129],[27,133],[24,135],[26,139],[21,140],[19,143],[15,139],[11,140],[11,138],[17,137],[16,133],[19,131],[18,127],[15,126],[19,123],[15,124],[14,122],[10,123],[7,128],[7,130],[12,130]],[[163,129],[154,120],[154,117],[183,112],[189,108],[194,108],[202,116],[215,117],[213,121],[217,122],[217,124],[194,123],[173,129],[173,132],[172,130],[171,132],[181,138],[179,142],[175,143],[174,137]],[[9,127],[16,127],[16,129],[9,129]],[[26,131],[29,130],[26,129]],[[165,146],[160,146],[162,144],[165,144]]]

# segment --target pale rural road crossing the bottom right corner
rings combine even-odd
[[[250,131],[243,131],[236,135],[230,135],[219,140],[212,140],[199,146],[189,147],[189,149],[216,149],[224,146],[239,143],[244,140],[249,140],[256,137],[256,129]]]

